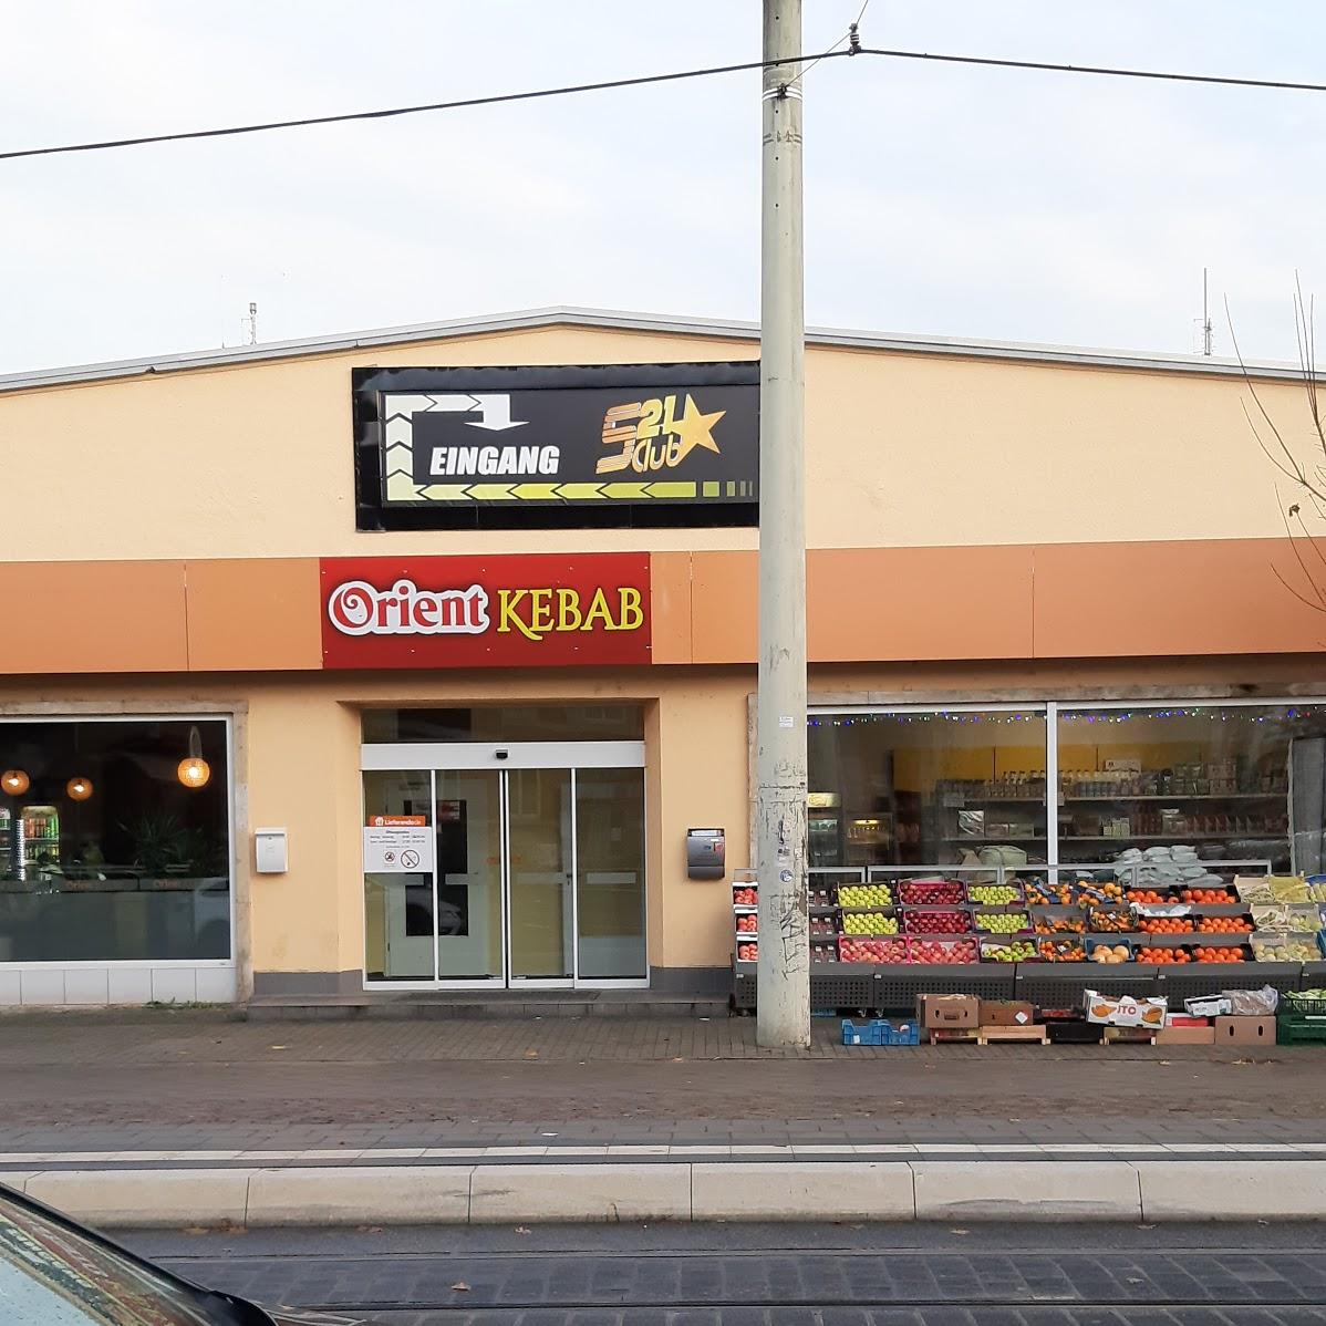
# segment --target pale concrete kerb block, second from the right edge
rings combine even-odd
[[[1140,1220],[1131,1164],[914,1160],[918,1220]]]

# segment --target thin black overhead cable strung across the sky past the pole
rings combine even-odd
[[[869,0],[867,0],[869,3]],[[865,8],[862,9],[865,13]],[[28,156],[60,156],[68,152],[109,151],[117,147],[143,147],[149,143],[179,143],[200,138],[235,138],[240,134],[265,134],[277,129],[305,129],[313,125],[345,125],[362,119],[392,119],[399,115],[420,115],[438,110],[463,110],[468,106],[497,106],[507,102],[538,101],[546,97],[570,97],[585,91],[610,91],[617,88],[643,88],[650,84],[679,82],[684,78],[711,78],[716,74],[744,73],[752,69],[772,69],[777,65],[800,65],[843,56],[880,56],[887,60],[923,60],[949,65],[981,65],[991,69],[1034,69],[1048,73],[1093,74],[1110,78],[1148,78],[1162,82],[1207,84],[1221,88],[1269,88],[1278,91],[1326,91],[1326,84],[1292,82],[1278,78],[1233,78],[1223,74],[1183,74],[1160,69],[1122,69],[1106,65],[1061,65],[1041,60],[996,60],[989,56],[947,56],[927,50],[887,50],[880,46],[850,45],[838,50],[842,38],[829,50],[815,56],[797,56],[794,60],[751,60],[735,65],[712,65],[707,69],[683,69],[668,74],[642,74],[636,78],[613,78],[607,82],[569,84],[561,88],[538,88],[532,91],[499,93],[492,97],[465,97],[459,101],[438,101],[422,106],[392,106],[386,110],[355,110],[341,115],[310,115],[302,119],[273,119],[261,125],[235,125],[227,129],[195,129],[176,134],[147,134],[141,138],[111,138],[90,143],[64,143],[58,147],[25,147],[0,152],[0,160],[19,160]],[[809,70],[806,70],[809,72]],[[805,74],[802,73],[801,77]]]

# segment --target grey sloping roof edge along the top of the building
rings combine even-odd
[[[496,313],[487,317],[455,318],[448,322],[418,322],[410,326],[354,332],[346,335],[310,337],[301,341],[272,341],[263,345],[223,350],[194,350],[183,354],[151,355],[143,359],[117,359],[109,363],[85,363],[72,367],[38,369],[30,373],[0,375],[0,392],[34,387],[56,387],[113,378],[134,378],[155,373],[187,373],[192,369],[219,369],[273,359],[304,358],[345,350],[371,349],[382,345],[408,345],[422,341],[444,341],[459,337],[492,335],[503,332],[525,332],[548,326],[602,328],[618,332],[652,332],[667,335],[691,335],[707,339],[758,341],[760,324],[721,318],[683,318],[655,313],[627,313],[614,309],[581,309],[558,305],[518,313]],[[1241,366],[1235,359],[1164,354],[1128,350],[1036,345],[1018,341],[973,341],[960,337],[895,335],[880,332],[853,332],[841,328],[808,328],[808,345],[831,345],[853,350],[884,350],[895,354],[937,354],[968,359],[1014,359],[1032,363],[1058,363],[1078,367],[1131,369],[1143,373],[1191,373],[1207,377],[1299,378],[1296,363],[1249,361]]]

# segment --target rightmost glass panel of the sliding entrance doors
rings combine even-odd
[[[575,910],[581,980],[648,975],[643,769],[575,770]]]

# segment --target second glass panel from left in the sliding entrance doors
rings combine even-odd
[[[436,773],[438,975],[503,979],[501,778]]]

